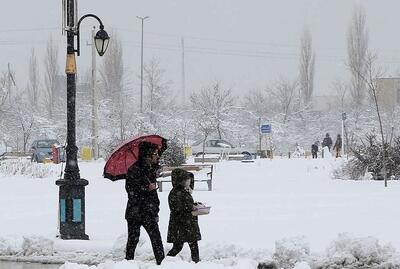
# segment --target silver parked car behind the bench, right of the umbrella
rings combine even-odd
[[[244,147],[235,147],[231,143],[223,139],[208,139],[204,142],[204,150],[203,150],[203,140],[197,141],[192,145],[192,154],[200,156],[203,154],[246,154],[251,155],[253,153],[252,150],[249,150]]]

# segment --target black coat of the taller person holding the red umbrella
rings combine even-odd
[[[127,175],[125,190],[128,193],[128,203],[125,219],[157,218],[160,200],[157,190],[149,191],[149,184],[157,181],[156,169],[138,161],[129,167]]]

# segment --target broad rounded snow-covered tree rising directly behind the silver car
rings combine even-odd
[[[215,82],[211,87],[204,88],[200,93],[193,93],[190,102],[197,118],[198,126],[204,134],[209,134],[210,129],[217,132],[218,137],[222,138],[225,131],[224,123],[234,109],[235,98],[231,89],[223,89],[219,82]],[[207,131],[207,132],[206,132]]]

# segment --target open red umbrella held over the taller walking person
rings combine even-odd
[[[133,137],[119,145],[111,153],[104,166],[103,176],[112,181],[126,178],[128,168],[138,160],[141,142],[156,144],[161,153],[167,148],[167,140],[159,135]]]

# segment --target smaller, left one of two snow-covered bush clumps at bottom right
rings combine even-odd
[[[284,238],[275,242],[274,260],[279,268],[293,268],[310,255],[310,247],[304,237]]]

